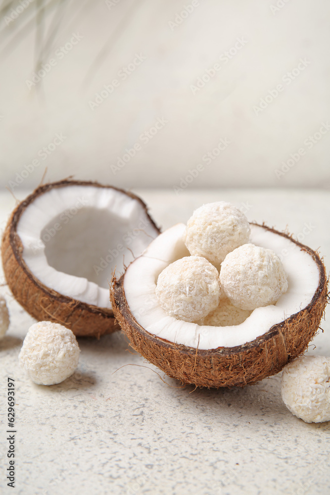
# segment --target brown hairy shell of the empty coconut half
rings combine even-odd
[[[55,323],[61,323],[70,328],[76,336],[99,338],[103,334],[120,330],[112,309],[97,307],[63,296],[42,284],[31,273],[22,259],[23,246],[16,231],[22,213],[38,196],[50,189],[70,186],[111,188],[126,194],[143,206],[150,222],[160,232],[148,215],[147,207],[142,199],[128,191],[88,181],[62,180],[49,183],[38,187],[30,196],[20,202],[12,212],[2,237],[3,271],[13,296],[34,318],[39,321],[50,320]]]

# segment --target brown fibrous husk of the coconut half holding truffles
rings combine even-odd
[[[258,225],[258,224],[255,224]],[[199,350],[174,344],[146,332],[130,312],[124,291],[124,276],[113,280],[110,299],[121,328],[132,347],[172,378],[199,387],[243,387],[282,370],[302,354],[318,331],[327,304],[327,278],[317,252],[286,233],[263,227],[286,237],[312,256],[320,272],[319,286],[306,308],[274,325],[264,335],[237,347]]]

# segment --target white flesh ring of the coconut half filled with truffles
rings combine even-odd
[[[198,325],[169,316],[155,296],[158,275],[189,252],[182,241],[184,224],[166,230],[127,269],[125,297],[131,313],[150,334],[198,349],[242,346],[266,333],[273,325],[304,309],[319,285],[319,269],[310,254],[289,239],[251,225],[249,242],[273,249],[287,274],[288,290],[276,304],[254,309],[239,325]]]

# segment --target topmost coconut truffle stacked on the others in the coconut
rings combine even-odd
[[[250,225],[231,203],[217,201],[197,208],[187,222],[183,241],[190,254],[204,256],[217,268],[226,255],[248,242]]]

